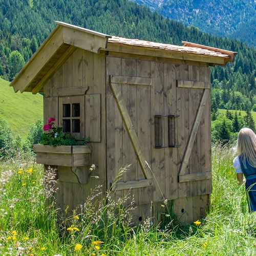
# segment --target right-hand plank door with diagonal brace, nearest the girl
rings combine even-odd
[[[208,180],[211,179],[209,94],[207,67],[178,67],[179,198],[209,193],[206,189],[206,183],[209,185]]]

